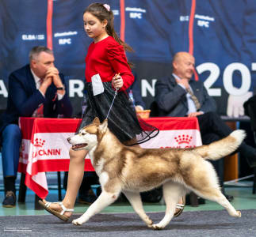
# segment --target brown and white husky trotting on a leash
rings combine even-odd
[[[227,201],[220,191],[216,171],[207,160],[218,160],[234,152],[245,137],[243,130],[235,130],[228,137],[210,145],[193,149],[142,149],[120,143],[109,131],[108,122],[99,119],[84,127],[67,140],[72,149],[86,149],[101,183],[101,195],[73,224],[83,224],[117,200],[120,192],[149,228],[162,229],[174,216],[179,199],[189,191],[222,205],[231,216],[241,213]],[[139,192],[162,185],[166,214],[159,224],[143,210]]]

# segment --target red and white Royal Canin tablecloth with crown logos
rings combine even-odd
[[[145,119],[159,128],[159,135],[143,143],[144,148],[184,148],[201,145],[197,118]],[[80,119],[20,118],[22,145],[18,171],[25,173],[25,185],[40,198],[48,195],[46,171],[68,171],[67,137],[74,135]],[[94,171],[86,159],[85,171]]]

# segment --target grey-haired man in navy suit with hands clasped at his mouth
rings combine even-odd
[[[16,204],[15,179],[21,145],[19,117],[71,117],[72,106],[65,91],[63,74],[54,66],[54,55],[47,47],[33,47],[29,64],[9,77],[5,113],[0,119],[2,168],[6,197],[4,207]]]

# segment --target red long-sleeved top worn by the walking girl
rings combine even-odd
[[[91,43],[86,55],[86,81],[100,74],[101,81],[112,81],[115,74],[120,73],[124,85],[120,90],[126,90],[134,81],[132,71],[127,63],[124,47],[112,36],[97,43]]]

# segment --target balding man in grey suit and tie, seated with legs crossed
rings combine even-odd
[[[215,100],[208,96],[203,82],[190,80],[195,58],[187,52],[178,52],[174,55],[172,64],[173,74],[158,80],[155,85],[159,116],[197,116],[204,145],[227,137],[232,130],[216,114]],[[243,142],[238,151],[243,153],[250,167],[256,167],[256,149]],[[218,175],[223,174],[218,172]],[[221,183],[223,180],[220,180]]]

